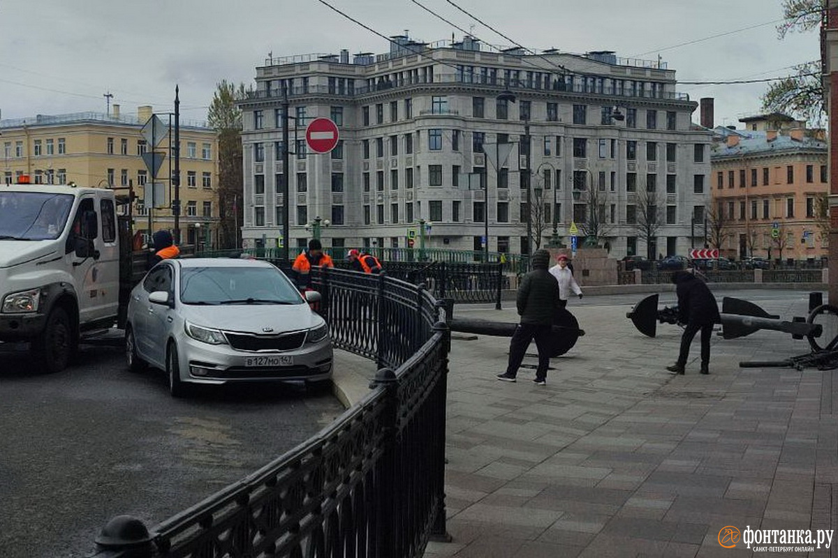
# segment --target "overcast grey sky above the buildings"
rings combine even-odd
[[[407,29],[426,42],[461,32],[411,0],[327,0],[386,36]],[[509,46],[447,0],[417,0],[489,44]],[[614,50],[657,59],[679,81],[763,79],[818,59],[817,33],[780,41],[781,0],[452,0],[530,49]],[[764,23],[764,24],[763,24]],[[763,25],[760,25],[763,24]],[[736,31],[722,37],[713,35]],[[700,39],[707,40],[700,40]],[[689,41],[693,44],[675,47]],[[204,120],[220,79],[250,83],[267,54],[387,52],[389,44],[318,0],[0,0],[0,111],[123,113],[138,105]],[[760,108],[766,84],[687,85],[691,99],[716,99],[716,124],[739,124]],[[698,121],[698,111],[693,115]],[[740,125],[741,126],[741,125]]]

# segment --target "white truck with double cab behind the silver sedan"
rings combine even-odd
[[[55,372],[81,335],[115,325],[133,284],[131,219],[116,203],[104,188],[0,185],[0,344],[27,341]]]

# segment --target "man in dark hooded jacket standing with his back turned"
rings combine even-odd
[[[538,250],[532,255],[532,271],[524,276],[518,288],[516,302],[520,323],[510,341],[510,362],[501,381],[515,381],[521,361],[524,360],[530,341],[535,338],[538,347],[538,368],[535,370],[536,386],[546,386],[547,367],[550,366],[551,331],[553,316],[559,306],[559,283],[547,268],[550,253]]]

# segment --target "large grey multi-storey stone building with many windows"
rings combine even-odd
[[[241,102],[246,245],[276,245],[287,202],[291,246],[319,217],[326,246],[404,247],[423,219],[427,246],[479,250],[488,209],[492,251],[528,253],[528,221],[541,246],[554,223],[568,243],[576,223],[613,257],[689,248],[709,201],[711,133],[691,124],[696,103],[675,91],[674,70],[610,52],[488,52],[469,37],[392,40],[389,54],[352,62],[344,50],[256,68]],[[326,155],[303,140],[319,116],[340,130]],[[496,169],[486,153],[504,143],[514,148]]]

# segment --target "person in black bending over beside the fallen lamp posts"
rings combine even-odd
[[[683,374],[686,359],[690,356],[690,344],[696,332],[701,330],[701,373],[710,373],[710,337],[713,334],[713,324],[722,319],[719,316],[719,306],[716,297],[704,284],[688,271],[676,271],[672,274],[678,293],[678,321],[686,324],[684,335],[681,335],[681,348],[678,361],[666,370],[673,374]]]

